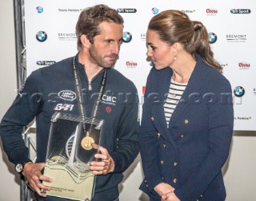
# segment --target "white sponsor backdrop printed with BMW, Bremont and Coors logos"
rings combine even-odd
[[[182,10],[209,32],[215,58],[234,90],[234,129],[256,130],[256,62],[254,1],[25,1],[27,76],[77,53],[75,25],[87,6],[103,3],[125,20],[120,58],[115,65],[137,86],[140,104],[150,62],[146,61],[146,27],[162,10]],[[141,108],[141,107],[140,107]]]

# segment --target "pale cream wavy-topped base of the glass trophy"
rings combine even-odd
[[[95,175],[91,171],[81,172],[73,166],[48,161],[44,175],[52,179],[50,183],[43,182],[44,185],[50,187],[46,195],[88,201],[94,195]]]

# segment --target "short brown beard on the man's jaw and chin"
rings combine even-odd
[[[107,62],[104,60],[104,57],[101,57],[97,51],[97,49],[95,49],[95,46],[94,45],[91,45],[90,46],[90,49],[89,49],[89,53],[90,53],[90,62],[95,64],[95,65],[98,65],[98,66],[101,66],[103,68],[111,68],[117,61],[118,59],[118,55],[115,54],[115,53],[112,53],[110,55],[107,55],[108,57],[116,57],[114,61],[110,61],[110,62]]]

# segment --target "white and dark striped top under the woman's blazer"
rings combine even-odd
[[[163,105],[167,127],[169,127],[170,116],[174,113],[174,109],[181,99],[182,94],[186,89],[186,85],[187,83],[178,83],[173,79],[170,79],[169,93],[166,97],[166,103]]]

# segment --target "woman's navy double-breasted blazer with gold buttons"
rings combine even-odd
[[[198,56],[186,90],[166,125],[163,104],[172,69],[152,68],[146,83],[139,145],[152,200],[158,183],[169,183],[182,201],[222,201],[222,166],[230,151],[234,111],[230,82]]]

